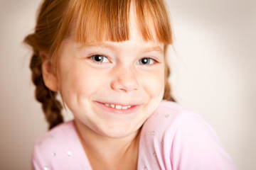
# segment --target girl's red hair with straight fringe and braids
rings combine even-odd
[[[42,103],[49,128],[63,122],[62,106],[56,93],[43,84],[39,52],[56,59],[61,42],[71,31],[81,43],[129,40],[130,8],[134,7],[138,30],[145,41],[156,39],[165,49],[172,43],[169,14],[164,0],[45,0],[39,9],[34,33],[24,39],[33,48],[31,71],[36,85],[36,99]],[[153,27],[152,27],[153,26]],[[155,35],[155,36],[153,36]],[[166,64],[165,100],[174,101],[168,83],[170,70]]]

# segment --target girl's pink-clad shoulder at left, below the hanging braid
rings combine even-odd
[[[72,169],[86,166],[80,162],[80,159],[85,159],[85,153],[73,121],[58,125],[36,140],[32,156],[34,169]]]

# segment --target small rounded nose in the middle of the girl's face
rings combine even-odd
[[[139,89],[134,69],[119,67],[112,72],[111,88],[114,91],[136,91]]]

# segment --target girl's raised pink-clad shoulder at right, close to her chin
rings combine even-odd
[[[140,152],[160,169],[235,169],[213,128],[197,113],[163,101],[144,123]]]

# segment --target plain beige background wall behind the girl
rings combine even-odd
[[[47,130],[33,99],[22,45],[38,0],[0,0],[0,169],[29,169],[33,142]],[[239,169],[256,169],[256,3],[168,0],[174,94],[218,133]],[[70,113],[65,113],[70,117]]]

